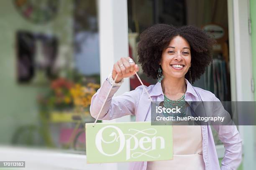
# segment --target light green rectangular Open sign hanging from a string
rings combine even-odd
[[[151,122],[86,123],[87,163],[172,160],[172,126]]]

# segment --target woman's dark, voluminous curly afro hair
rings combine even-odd
[[[207,65],[212,62],[212,46],[214,38],[195,26],[174,27],[167,24],[156,24],[141,33],[138,43],[138,62],[143,72],[154,79],[161,61],[162,51],[169,45],[172,38],[181,36],[189,42],[191,48],[192,82],[199,79]],[[185,75],[189,80],[189,73]]]

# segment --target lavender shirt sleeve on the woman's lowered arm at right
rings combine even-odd
[[[220,102],[215,95],[213,96],[213,101]],[[215,113],[225,110],[223,106],[217,108],[218,110],[214,110]],[[225,148],[224,158],[221,161],[221,170],[236,170],[242,160],[242,140],[236,125],[212,126],[218,132],[219,139],[223,142]]]

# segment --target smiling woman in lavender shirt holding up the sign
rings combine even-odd
[[[211,50],[215,40],[204,31],[193,27],[154,25],[141,33],[138,44],[139,63],[146,75],[158,79],[156,85],[146,87],[153,101],[164,101],[164,105],[184,101],[220,101],[212,92],[193,87],[212,61]],[[142,86],[113,97],[123,78],[134,75],[138,65],[129,57],[121,58],[113,71],[92,97],[90,112],[101,120],[111,120],[124,115],[136,115],[136,121],[151,120],[151,100]],[[118,74],[114,82],[115,76]],[[224,143],[225,156],[221,170],[235,170],[241,163],[241,138],[235,125],[215,125],[220,140]],[[218,156],[209,125],[173,126],[173,160],[135,162],[132,170],[218,170]]]

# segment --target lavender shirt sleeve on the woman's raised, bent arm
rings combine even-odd
[[[97,117],[110,88],[111,84],[105,80],[100,89],[92,96],[90,106],[92,117]],[[110,94],[100,113],[99,120],[112,120],[125,115],[135,115],[135,108],[142,93],[141,87],[139,86],[135,90],[113,97],[118,89],[118,86],[113,86],[110,90]]]

